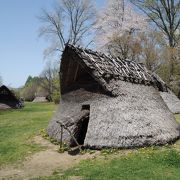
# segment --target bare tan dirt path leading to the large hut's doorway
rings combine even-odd
[[[58,153],[58,146],[51,144],[49,141],[37,136],[33,140],[35,143],[47,146],[48,150],[35,153],[26,158],[26,160],[18,168],[6,167],[0,169],[0,179],[29,179],[39,176],[49,176],[55,169],[66,170],[80,160],[92,158],[98,155],[85,154],[71,156],[67,152]]]

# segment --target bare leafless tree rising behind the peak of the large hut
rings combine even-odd
[[[91,32],[94,17],[91,0],[59,0],[52,12],[43,10],[39,17],[43,23],[39,35],[51,42],[45,53],[61,52],[67,42],[82,45]]]

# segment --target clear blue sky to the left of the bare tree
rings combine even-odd
[[[37,76],[46,61],[48,46],[38,38],[37,16],[51,8],[54,0],[0,0],[0,75],[11,87],[22,86],[29,75]],[[104,0],[96,0],[102,6]]]

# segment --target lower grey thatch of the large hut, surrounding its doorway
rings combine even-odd
[[[166,144],[180,136],[180,126],[153,87],[120,81],[122,95],[112,98],[79,89],[62,96],[47,131],[60,141],[57,121],[76,121],[82,106],[90,105],[90,116],[84,145],[89,148],[136,147]],[[78,138],[81,122],[69,127]],[[63,140],[74,142],[64,130]]]

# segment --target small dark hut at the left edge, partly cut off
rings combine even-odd
[[[0,109],[21,108],[22,102],[6,87],[0,87]]]

